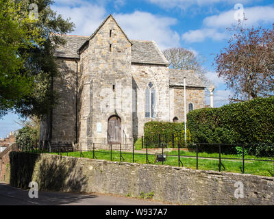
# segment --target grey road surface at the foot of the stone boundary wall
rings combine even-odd
[[[0,205],[166,205],[139,198],[104,194],[66,192],[38,192],[38,198],[29,198],[29,190],[13,188],[0,182]]]

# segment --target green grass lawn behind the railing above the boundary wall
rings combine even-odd
[[[139,140],[138,140],[139,141]],[[136,142],[136,150],[140,150],[142,148],[141,142]],[[145,153],[145,151],[144,151]],[[58,153],[52,153],[58,154]],[[72,152],[72,153],[62,153],[62,155],[80,157],[80,152]],[[122,152],[123,158],[122,162],[133,162],[132,153]],[[164,162],[164,165],[170,166],[179,166],[178,164],[178,152],[172,151],[170,153],[166,153],[167,158]],[[120,151],[112,151],[112,157],[110,155],[110,151],[99,150],[95,151],[95,156],[97,159],[105,159],[111,160],[114,162],[120,162]],[[182,164],[186,168],[196,169],[196,153],[190,151],[180,151],[180,156],[193,156],[191,157],[180,157]],[[82,152],[82,157],[93,158],[92,151]],[[199,170],[215,170],[219,171],[219,153],[199,153]],[[206,158],[206,157],[216,157],[217,159]],[[240,155],[221,155],[222,158],[229,157],[233,159],[222,159],[223,166],[221,167],[221,171],[225,172],[238,172],[242,173],[242,156]],[[162,165],[162,162],[156,162],[156,155],[148,155],[149,164]],[[272,160],[266,157],[253,157],[246,155],[245,159],[266,159]],[[135,153],[134,154],[134,162],[139,164],[146,164],[147,159],[146,155]],[[180,164],[182,166],[182,164]],[[245,160],[245,173],[252,175],[261,175],[267,177],[274,176],[274,162],[260,162],[260,161],[251,161]]]

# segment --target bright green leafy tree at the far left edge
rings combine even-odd
[[[12,109],[18,99],[32,92],[33,77],[22,72],[24,55],[19,49],[32,47],[32,38],[37,39],[27,25],[32,23],[27,14],[19,16],[20,8],[12,1],[0,0],[0,117]]]

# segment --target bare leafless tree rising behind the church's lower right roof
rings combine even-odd
[[[192,51],[184,48],[166,49],[163,53],[166,60],[169,61],[170,68],[194,70],[206,87],[209,87],[212,83],[208,78],[206,78],[206,69],[203,68],[203,64],[206,60],[201,55],[195,55]]]

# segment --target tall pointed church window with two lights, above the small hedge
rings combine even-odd
[[[155,118],[156,92],[150,82],[145,90],[145,117]]]

